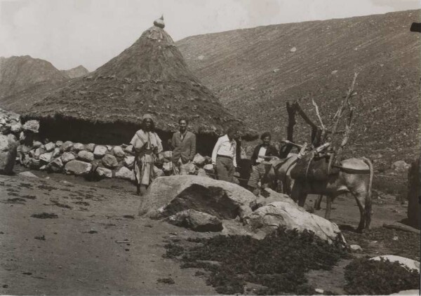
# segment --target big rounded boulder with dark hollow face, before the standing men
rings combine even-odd
[[[234,219],[250,215],[255,200],[250,191],[225,181],[192,175],[158,177],[142,196],[139,215],[161,218],[192,209]]]

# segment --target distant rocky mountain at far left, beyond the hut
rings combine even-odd
[[[58,86],[68,79],[46,60],[29,55],[0,58],[0,99],[34,86]]]

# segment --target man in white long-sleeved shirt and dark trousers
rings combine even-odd
[[[233,182],[236,168],[236,128],[228,128],[227,135],[218,138],[212,152],[212,164],[218,180]]]

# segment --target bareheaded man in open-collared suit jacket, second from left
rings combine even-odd
[[[175,175],[188,175],[193,166],[194,155],[196,154],[196,135],[187,130],[189,121],[180,119],[178,126],[180,130],[174,133],[171,144],[173,146],[173,173]]]

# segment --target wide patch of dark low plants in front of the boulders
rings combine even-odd
[[[247,283],[263,288],[260,295],[312,295],[307,283],[310,269],[331,269],[349,257],[340,243],[328,244],[314,233],[279,229],[261,241],[250,236],[194,238],[191,248],[166,245],[166,257],[178,257],[182,268],[205,269],[208,284],[222,294],[243,293]]]

